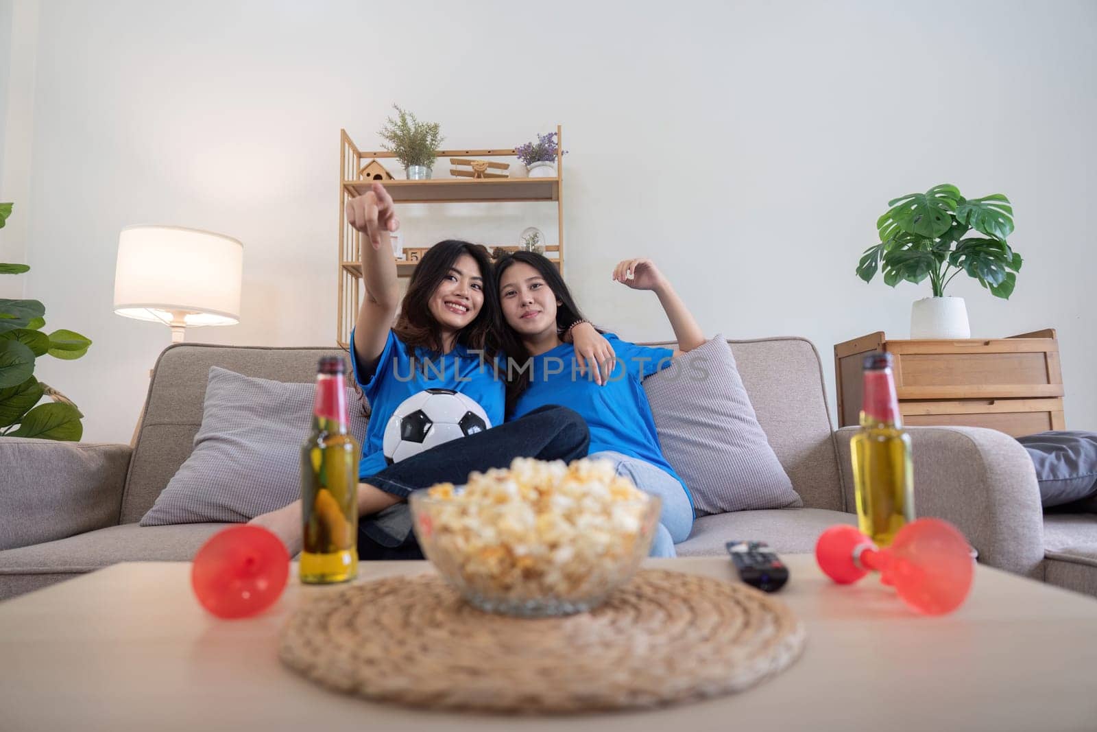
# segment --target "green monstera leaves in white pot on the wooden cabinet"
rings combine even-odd
[[[864,250],[859,278],[869,282],[882,269],[884,284],[893,288],[929,278],[934,296],[942,297],[952,278],[966,272],[996,297],[1013,294],[1021,256],[1006,243],[1014,232],[1009,199],[1000,193],[965,199],[955,185],[942,183],[887,205],[877,219],[880,244]],[[972,229],[983,236],[963,238]]]

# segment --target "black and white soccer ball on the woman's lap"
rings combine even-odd
[[[436,444],[491,428],[474,399],[449,388],[428,388],[404,399],[385,425],[383,451],[389,465]]]

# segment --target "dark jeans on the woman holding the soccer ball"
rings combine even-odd
[[[362,482],[407,498],[412,491],[434,483],[466,483],[473,471],[509,468],[514,458],[565,462],[586,458],[589,446],[590,432],[583,417],[567,407],[550,405],[420,452]],[[362,560],[422,559],[406,503],[360,519],[358,555]]]

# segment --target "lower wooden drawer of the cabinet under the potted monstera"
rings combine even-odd
[[[908,427],[988,427],[1013,437],[1065,429],[1061,398],[908,401],[900,402],[898,410]]]

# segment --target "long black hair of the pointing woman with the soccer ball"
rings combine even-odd
[[[411,273],[411,281],[400,303],[400,314],[393,325],[393,331],[410,348],[421,347],[432,353],[441,353],[442,337],[438,320],[430,313],[430,299],[461,255],[468,255],[479,267],[480,277],[484,279],[484,305],[473,322],[457,333],[456,342],[466,348],[482,349],[494,359],[498,347],[494,331],[499,322],[499,296],[496,294],[491,259],[487,248],[478,244],[445,239],[423,254]]]

